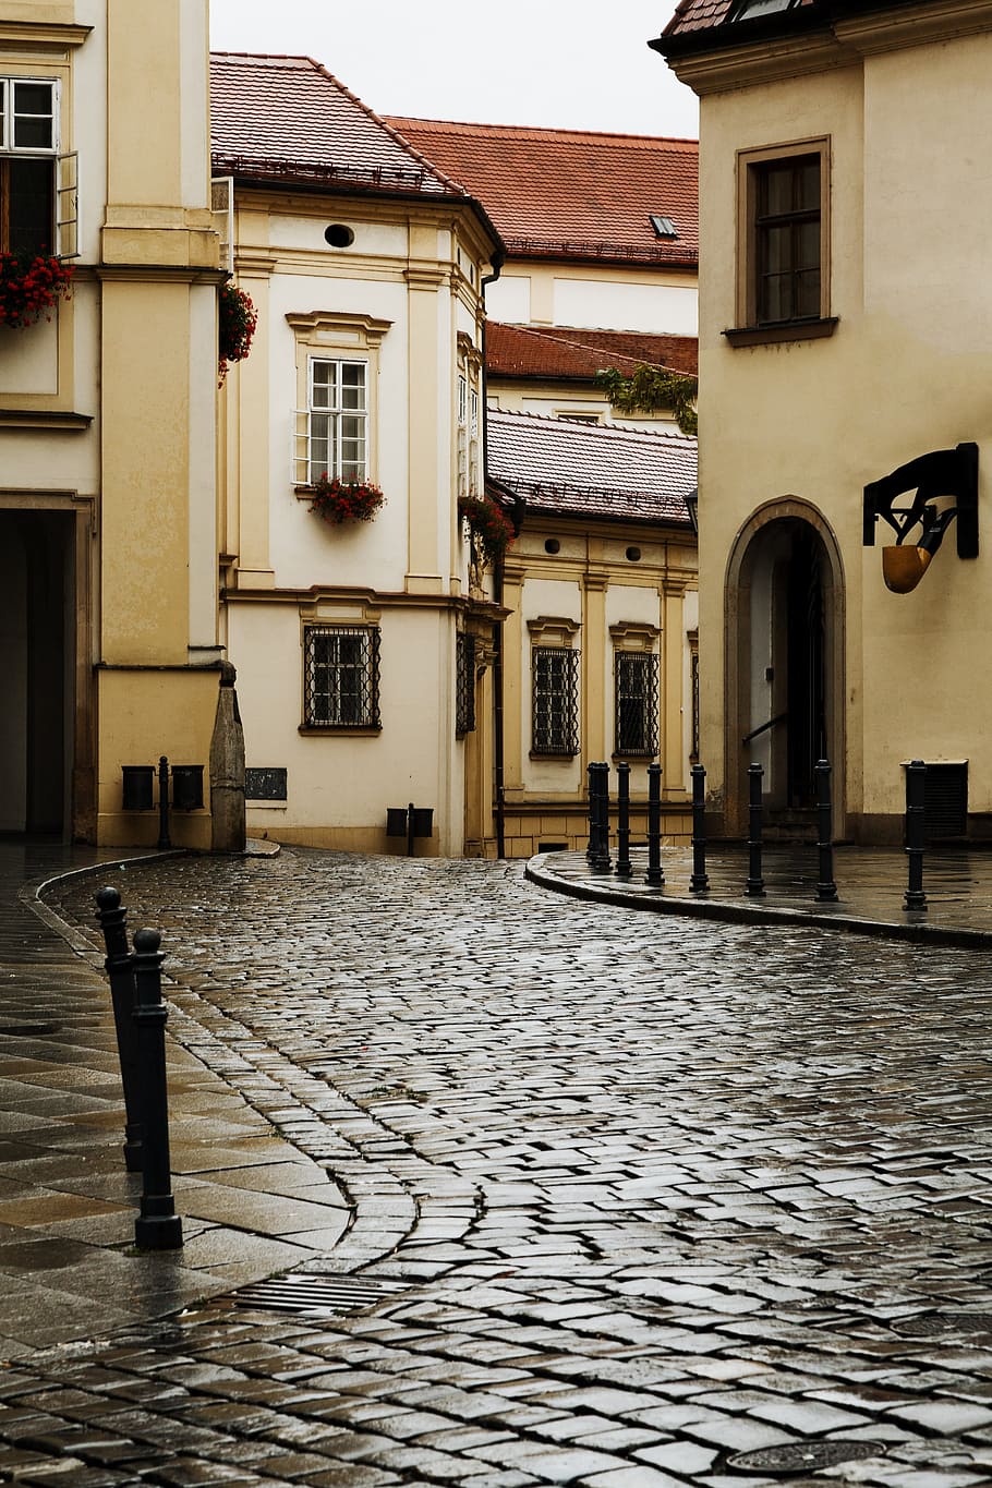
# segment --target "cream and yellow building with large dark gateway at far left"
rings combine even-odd
[[[208,762],[207,55],[207,0],[0,4],[0,250],[74,266],[51,318],[0,324],[3,832],[155,841],[122,765]],[[208,809],[173,835],[208,845]]]

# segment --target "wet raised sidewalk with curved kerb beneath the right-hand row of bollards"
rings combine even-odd
[[[690,887],[692,850],[662,848],[665,882],[645,882],[647,848],[631,853],[631,878],[595,870],[584,853],[541,853],[531,859],[526,876],[543,888],[598,903],[623,905],[657,914],[693,915],[739,924],[831,926],[858,934],[922,940],[933,945],[992,945],[992,850],[934,848],[924,857],[927,908],[907,911],[907,856],[898,848],[837,847],[833,854],[836,902],[817,897],[815,845],[766,845],[763,896],[748,896],[748,850],[720,844],[706,854],[709,887]]]

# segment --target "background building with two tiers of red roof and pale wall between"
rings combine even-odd
[[[617,418],[595,371],[650,362],[695,373],[696,141],[390,122],[483,202],[506,243],[486,289],[489,406],[675,427],[666,409]]]

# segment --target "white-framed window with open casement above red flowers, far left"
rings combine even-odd
[[[0,251],[76,254],[76,156],[59,155],[59,85],[0,77]]]

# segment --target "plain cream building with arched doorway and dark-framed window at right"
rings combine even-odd
[[[930,833],[988,836],[992,6],[683,0],[657,48],[700,97],[714,821],[744,830],[753,760],[808,809],[825,754],[837,835],[895,842],[922,759]],[[950,510],[919,585],[886,588],[882,546],[919,574]]]

